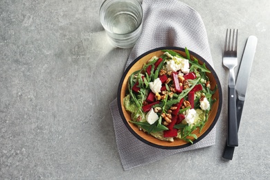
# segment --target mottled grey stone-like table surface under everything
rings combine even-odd
[[[109,103],[131,49],[107,43],[102,1],[1,0],[0,179],[270,179],[270,1],[182,2],[204,21],[224,91],[216,144],[124,171]],[[226,28],[239,29],[239,57],[258,37],[233,161],[222,159]]]

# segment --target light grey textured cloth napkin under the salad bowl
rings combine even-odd
[[[187,47],[212,66],[208,38],[200,15],[190,6],[177,0],[144,0],[143,31],[127,60],[127,66],[139,55],[161,46]],[[124,170],[160,159],[215,144],[215,127],[201,141],[179,150],[163,150],[139,141],[125,127],[118,111],[117,100],[110,104],[114,120],[116,144]]]

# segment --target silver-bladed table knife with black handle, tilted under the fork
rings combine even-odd
[[[251,67],[253,63],[253,58],[255,55],[255,50],[257,46],[257,37],[251,35],[246,40],[246,46],[244,48],[244,53],[242,56],[240,69],[238,71],[235,89],[237,91],[236,100],[236,111],[237,111],[237,129],[239,130],[240,120],[242,116],[242,111],[244,107],[244,98],[246,96],[246,89],[249,82],[249,75],[251,73]],[[224,159],[233,159],[233,152],[235,147],[225,146],[223,157]]]

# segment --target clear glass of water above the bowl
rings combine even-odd
[[[119,48],[131,48],[141,35],[143,8],[137,0],[105,0],[100,22],[109,41]]]

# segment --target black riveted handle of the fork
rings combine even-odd
[[[228,137],[227,145],[238,146],[235,85],[228,86]]]

